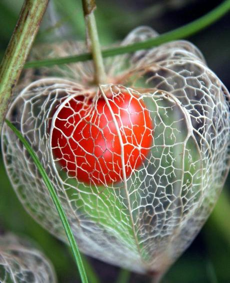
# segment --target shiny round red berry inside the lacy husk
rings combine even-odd
[[[141,99],[121,90],[108,103],[113,114],[103,98],[93,103],[75,97],[55,119],[51,136],[54,156],[78,181],[96,185],[122,181],[121,145],[126,178],[149,153],[153,125]]]

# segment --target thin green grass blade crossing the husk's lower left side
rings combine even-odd
[[[55,204],[55,207],[57,209],[57,212],[59,214],[59,217],[61,219],[61,222],[63,224],[63,227],[64,227],[64,230],[65,230],[65,233],[67,235],[67,238],[68,238],[68,241],[69,241],[69,244],[71,246],[71,249],[72,249],[72,253],[73,253],[73,256],[74,256],[74,259],[76,261],[76,264],[77,264],[77,267],[78,267],[78,270],[79,270],[79,274],[80,274],[80,278],[81,278],[81,281],[83,283],[87,283],[88,280],[87,280],[87,277],[86,277],[86,273],[85,273],[85,270],[84,270],[84,266],[83,266],[83,263],[82,263],[82,260],[81,260],[81,256],[80,256],[80,252],[79,252],[79,249],[77,247],[77,244],[75,242],[75,239],[74,239],[74,236],[72,234],[72,230],[71,230],[71,227],[68,223],[68,220],[67,220],[67,217],[62,209],[62,206],[61,206],[61,203],[60,203],[60,200],[55,192],[55,189],[53,188],[53,185],[52,183],[50,182],[45,170],[43,169],[39,159],[37,158],[36,154],[34,153],[34,151],[32,150],[32,148],[30,147],[30,145],[28,144],[28,142],[25,140],[25,138],[21,135],[21,133],[13,126],[13,124],[11,122],[9,122],[8,120],[5,120],[5,123],[10,127],[10,129],[15,133],[15,135],[18,137],[18,139],[21,141],[21,143],[24,145],[25,149],[28,151],[29,155],[31,156],[34,164],[36,165],[49,193],[50,193],[50,196]]]

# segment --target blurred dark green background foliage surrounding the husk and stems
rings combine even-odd
[[[0,57],[15,26],[22,0],[0,0]],[[209,0],[97,0],[96,20],[102,45],[121,40],[133,28],[148,25],[158,33],[170,31],[204,15],[220,1]],[[84,39],[80,0],[52,0],[36,42]],[[230,15],[188,39],[208,66],[230,89]],[[42,51],[41,51],[42,52]],[[230,178],[208,221],[191,246],[174,263],[163,282],[230,282]],[[22,208],[10,185],[0,157],[0,232],[32,238],[53,262],[59,282],[76,282],[77,270],[68,247],[41,228]],[[149,282],[88,258],[101,282]],[[89,268],[89,267],[88,267]],[[90,275],[90,268],[87,272]],[[91,271],[93,271],[91,270]],[[89,278],[90,281],[90,278]],[[97,283],[93,280],[93,283]]]

